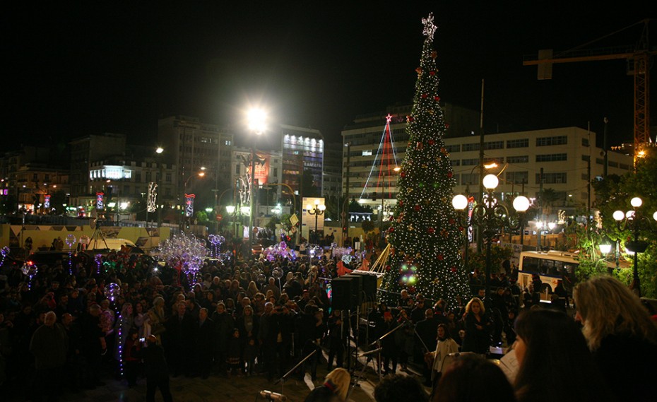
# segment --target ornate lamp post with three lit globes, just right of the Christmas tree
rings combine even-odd
[[[514,222],[509,217],[509,210],[506,206],[497,203],[495,199],[495,189],[499,184],[499,179],[495,175],[486,175],[482,181],[486,193],[483,195],[483,201],[473,208],[472,223],[476,225],[483,234],[483,240],[486,242],[486,281],[485,281],[485,304],[490,305],[490,257],[491,244],[493,237],[499,233],[502,227],[508,227],[510,230],[518,230],[522,227],[523,215],[529,208],[529,199],[526,196],[518,196],[514,199],[514,209],[519,214],[519,219]],[[457,211],[464,211],[468,206],[468,199],[462,194],[457,194],[452,199],[452,206]],[[463,225],[466,230],[466,253],[468,250],[468,222]],[[467,261],[467,256],[465,256]]]

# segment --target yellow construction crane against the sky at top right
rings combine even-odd
[[[552,78],[552,64],[576,63],[579,61],[600,61],[627,59],[627,74],[634,76],[634,165],[637,158],[645,155],[650,138],[650,57],[657,54],[649,44],[648,25],[650,19],[641,20],[596,40],[586,42],[573,49],[553,54],[552,49],[538,51],[538,57],[524,58],[523,66],[538,66],[538,79]],[[616,35],[637,25],[643,24],[643,31],[637,45],[606,47],[601,49],[584,49],[594,42]]]

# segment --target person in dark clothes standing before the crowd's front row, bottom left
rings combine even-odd
[[[146,338],[146,348],[136,352],[136,357],[143,358],[143,367],[146,374],[146,402],[155,402],[155,389],[160,389],[162,399],[172,402],[169,389],[169,367],[165,359],[164,349],[158,345],[158,338],[149,335]]]

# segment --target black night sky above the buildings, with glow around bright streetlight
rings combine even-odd
[[[340,141],[357,114],[411,102],[420,18],[430,11],[441,97],[479,110],[485,78],[487,132],[590,121],[601,133],[606,116],[612,142],[628,141],[633,86],[625,61],[559,64],[551,81],[538,81],[522,59],[657,17],[647,0],[614,9],[527,0],[23,3],[11,2],[0,17],[1,110],[4,137],[25,144],[111,131],[147,145],[158,117],[188,114],[239,128],[249,104]],[[657,22],[651,29],[657,45]],[[633,45],[640,33],[641,25],[591,47]]]

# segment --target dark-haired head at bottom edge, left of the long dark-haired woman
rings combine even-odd
[[[479,355],[463,353],[440,378],[432,402],[515,402],[504,372]]]

